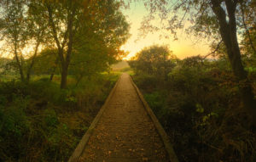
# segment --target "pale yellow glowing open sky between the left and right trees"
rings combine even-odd
[[[173,41],[173,37],[170,33],[170,38],[160,39],[160,33],[154,32],[153,34],[148,34],[145,38],[139,38],[139,28],[143,20],[143,16],[148,14],[146,8],[144,8],[143,3],[131,3],[129,9],[123,9],[123,14],[125,14],[128,22],[131,25],[131,37],[129,40],[121,47],[129,54],[125,59],[131,59],[135,54],[143,49],[143,47],[148,47],[151,45],[167,45],[172,53],[179,59],[184,59],[189,56],[195,55],[207,55],[209,53],[209,47],[207,41],[201,41],[195,43],[195,38],[189,38],[185,32],[177,32],[177,41]]]

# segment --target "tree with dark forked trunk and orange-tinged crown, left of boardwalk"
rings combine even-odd
[[[61,88],[67,86],[68,67],[73,51],[86,46],[82,43],[86,42],[85,40],[90,42],[88,35],[101,35],[102,45],[114,51],[127,39],[122,32],[127,32],[128,27],[121,26],[115,19],[116,15],[120,15],[120,5],[113,0],[108,2],[103,0],[46,1],[45,6],[61,62]],[[121,23],[124,22],[123,16],[118,18],[123,19]],[[127,23],[123,25],[128,26]],[[117,37],[118,39],[115,39]]]

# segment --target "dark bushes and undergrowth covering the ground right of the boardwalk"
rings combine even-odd
[[[255,161],[255,130],[226,61],[183,59],[168,77],[133,76],[180,161]]]

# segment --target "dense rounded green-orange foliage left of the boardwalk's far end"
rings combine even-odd
[[[129,24],[119,11],[119,3],[102,1],[100,6],[106,8],[104,14],[96,14],[96,20],[86,19],[87,23],[80,25],[74,36],[71,73],[78,83],[84,76],[108,70],[125,55],[119,48],[130,36]]]

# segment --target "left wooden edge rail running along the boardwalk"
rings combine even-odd
[[[121,74],[122,75],[122,74]],[[104,110],[106,109],[110,98],[113,97],[113,93],[116,90],[116,87],[119,83],[119,80],[121,78],[121,75],[119,75],[119,79],[118,81],[116,81],[113,89],[111,90],[111,92],[108,95],[108,98],[106,99],[105,103],[103,104],[102,108],[100,109],[100,111],[98,112],[98,114],[96,115],[95,119],[91,122],[90,127],[88,128],[88,130],[85,132],[84,136],[82,137],[82,139],[80,140],[77,148],[75,148],[75,150],[73,151],[73,154],[71,155],[71,157],[68,159],[68,162],[77,162],[79,161],[79,158],[81,156],[81,154],[84,151],[85,145],[87,144],[87,142],[89,141],[89,138],[92,134],[92,132],[94,131],[94,129],[96,128],[96,125],[98,123],[98,121],[101,119],[102,114],[104,112]]]

